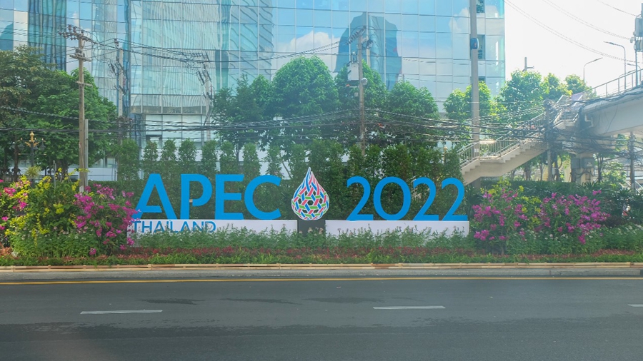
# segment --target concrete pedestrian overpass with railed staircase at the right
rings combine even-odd
[[[635,71],[564,96],[504,136],[470,143],[459,151],[460,168],[469,184],[503,176],[549,148],[564,148],[572,153],[574,180],[584,183],[592,180],[594,154],[613,148],[613,136],[630,132],[643,136],[643,86]]]

